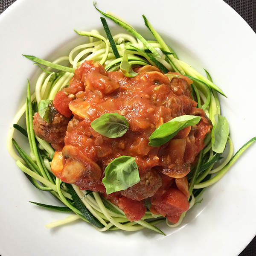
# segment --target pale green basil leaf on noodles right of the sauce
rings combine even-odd
[[[214,118],[216,123],[212,128],[212,150],[216,153],[222,153],[227,143],[229,126],[224,116],[216,114]]]

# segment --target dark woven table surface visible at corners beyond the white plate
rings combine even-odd
[[[0,0],[0,14],[16,0]],[[224,0],[256,32],[256,0]],[[1,255],[0,255],[1,256]],[[239,256],[256,256],[256,237],[239,254]]]

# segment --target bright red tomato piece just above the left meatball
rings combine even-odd
[[[61,90],[56,93],[53,100],[53,105],[62,115],[70,117],[72,116],[72,111],[69,109],[68,105],[71,101],[72,99],[64,91]]]

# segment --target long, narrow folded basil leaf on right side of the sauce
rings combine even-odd
[[[171,140],[177,133],[188,126],[196,125],[201,120],[200,116],[183,115],[177,116],[169,122],[156,128],[149,137],[148,145],[160,147]]]

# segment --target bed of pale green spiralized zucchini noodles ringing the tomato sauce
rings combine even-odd
[[[103,15],[105,14],[103,13]],[[111,16],[110,13],[106,15],[106,17],[110,17],[115,22],[119,19],[117,16]],[[194,70],[189,64],[180,61],[175,52],[163,42],[160,35],[153,29],[146,19],[145,24],[156,38],[155,41],[143,41],[145,39],[141,35],[138,36],[135,29],[128,23],[125,23],[125,21],[122,20],[119,22],[120,26],[127,29],[128,32],[131,32],[132,34],[119,33],[113,35],[113,41],[120,58],[115,57],[116,55],[113,53],[114,50],[111,47],[109,38],[101,35],[97,30],[91,32],[75,30],[79,35],[84,37],[85,42],[73,48],[68,55],[61,56],[52,61],[52,64],[56,64],[56,66],[52,65],[51,67],[46,67],[42,71],[35,84],[35,93],[30,96],[30,90],[28,90],[27,103],[23,105],[20,111],[18,111],[12,122],[12,126],[17,124],[19,120],[23,118],[24,113],[26,113],[27,133],[31,147],[30,156],[22,151],[15,140],[13,140],[15,128],[10,128],[7,138],[8,151],[15,159],[17,166],[26,173],[26,175],[32,177],[34,181],[37,180],[40,182],[41,185],[38,184],[38,187],[46,190],[50,189],[56,198],[75,213],[75,215],[70,215],[63,220],[47,224],[47,228],[57,227],[82,219],[91,224],[94,223],[93,225],[95,228],[101,232],[116,229],[137,231],[143,228],[148,228],[164,235],[155,224],[166,219],[166,225],[175,228],[182,223],[182,220],[186,215],[186,212],[183,212],[180,216],[180,220],[176,224],[172,224],[167,218],[163,218],[160,215],[154,215],[150,211],[147,211],[142,220],[130,222],[119,207],[116,207],[116,205],[105,198],[102,198],[98,192],[81,191],[75,185],[72,185],[71,188],[66,186],[66,184],[56,178],[51,171],[50,164],[55,152],[54,149],[49,143],[35,137],[32,128],[33,114],[36,112],[35,103],[38,104],[42,99],[53,100],[55,94],[69,84],[70,79],[74,75],[72,73],[72,68],[78,68],[86,60],[93,60],[102,64],[107,71],[119,70],[125,52],[130,65],[139,64],[145,66],[151,64],[159,69],[162,67],[164,70],[168,71],[179,71],[181,74],[192,79],[194,81],[192,85],[192,92],[194,92],[193,99],[198,102],[199,108],[203,108],[209,120],[212,122],[212,125],[215,125],[216,121],[214,116],[221,113],[218,93],[221,93],[224,96],[225,94],[220,88],[213,84],[208,72],[208,78],[206,78]],[[136,38],[136,36],[138,36],[139,39]],[[86,41],[88,42],[86,43]],[[36,62],[41,64],[44,63],[44,60],[40,61]],[[69,70],[70,72],[56,70],[58,69],[58,65],[62,63],[67,64],[65,66],[71,68]],[[56,69],[53,67],[56,67]],[[229,153],[227,154],[226,159],[224,159],[218,167],[213,168],[215,166],[215,160],[219,160],[220,156],[216,155],[212,150],[211,134],[207,135],[200,160],[197,163],[197,166],[192,168],[188,176],[189,190],[192,191],[189,198],[189,209],[198,202],[198,198],[201,196],[203,188],[212,185],[223,177],[243,151],[255,140],[256,138],[254,137],[233,156],[233,143],[230,137],[228,137]],[[13,145],[15,145],[17,151],[20,152],[21,157],[14,150]],[[215,176],[212,177],[212,174]],[[76,205],[74,194],[72,194],[73,191],[81,200],[81,208]],[[84,214],[83,211],[87,211],[87,213]]]

